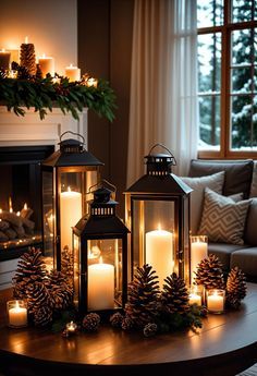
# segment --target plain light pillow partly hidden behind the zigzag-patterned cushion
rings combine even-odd
[[[200,225],[205,189],[209,187],[221,194],[224,183],[224,171],[200,178],[183,177],[181,180],[194,190],[191,193],[191,231],[192,234],[195,235]]]

